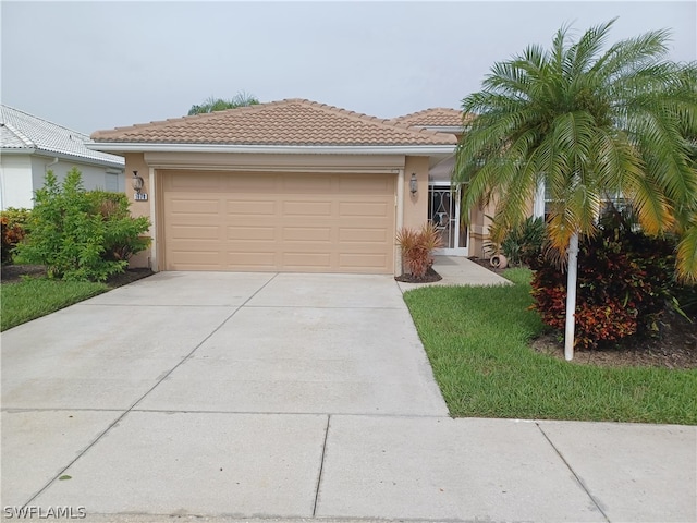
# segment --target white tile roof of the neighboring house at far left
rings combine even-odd
[[[3,150],[36,149],[38,153],[80,158],[89,163],[123,168],[120,156],[85,147],[89,136],[72,131],[5,105],[0,106],[0,148]]]

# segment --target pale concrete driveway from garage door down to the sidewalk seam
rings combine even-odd
[[[161,272],[3,338],[10,409],[448,412],[380,276]]]

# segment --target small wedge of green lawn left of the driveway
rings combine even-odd
[[[109,287],[105,283],[45,278],[27,278],[14,283],[3,283],[0,285],[0,330],[46,316],[108,290]]]

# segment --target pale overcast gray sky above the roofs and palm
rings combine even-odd
[[[697,2],[0,2],[3,104],[91,133],[208,96],[309,98],[393,118],[460,107],[493,62],[614,16],[697,60]]]

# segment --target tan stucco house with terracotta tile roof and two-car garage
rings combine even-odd
[[[400,273],[394,236],[433,220],[443,253],[470,252],[450,184],[462,114],[430,109],[380,120],[304,99],[91,135],[143,179],[136,216],[154,270]]]

